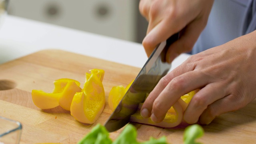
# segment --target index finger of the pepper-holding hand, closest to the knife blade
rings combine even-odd
[[[164,76],[158,84],[155,86],[154,90],[150,92],[148,97],[146,98],[144,104],[142,105],[140,114],[144,118],[148,118],[151,116],[152,105],[155,99],[159,96],[159,94],[164,90],[164,88],[168,85],[168,83],[176,76],[184,74],[185,72],[189,72],[194,70],[194,66],[186,64],[186,61],[182,63],[180,66],[172,70],[172,72],[168,73]]]

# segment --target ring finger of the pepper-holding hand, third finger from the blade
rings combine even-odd
[[[184,112],[184,121],[188,124],[198,122],[200,115],[208,105],[226,96],[226,86],[217,82],[210,83],[198,91]]]

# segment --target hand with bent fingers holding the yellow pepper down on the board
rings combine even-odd
[[[209,124],[256,98],[256,31],[190,56],[164,76],[141,108],[143,117],[161,122],[180,96],[200,89],[184,112],[188,124]]]

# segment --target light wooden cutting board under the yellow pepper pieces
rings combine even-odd
[[[82,124],[76,121],[70,111],[60,106],[41,110],[31,97],[31,91],[52,92],[53,81],[59,78],[72,78],[81,85],[85,73],[90,69],[105,70],[103,85],[106,94],[105,108],[94,124]],[[93,126],[104,124],[112,111],[108,106],[108,94],[113,86],[129,84],[140,68],[126,66],[106,60],[65,52],[61,50],[43,50],[0,65],[0,116],[22,123],[20,144],[59,142],[75,144],[82,139]],[[217,117],[211,124],[203,126],[205,135],[200,142],[209,143],[255,143],[256,142],[256,101],[236,112]],[[148,140],[150,136],[166,136],[169,143],[183,142],[184,128],[180,124],[175,128],[157,128],[132,123],[138,129],[138,141]],[[113,140],[122,129],[112,132]]]

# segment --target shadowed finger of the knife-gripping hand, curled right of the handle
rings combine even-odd
[[[166,61],[171,63],[181,53],[191,51],[205,25],[202,20],[194,20],[188,24],[180,33],[179,40],[168,48]]]

